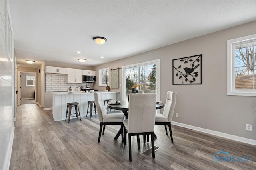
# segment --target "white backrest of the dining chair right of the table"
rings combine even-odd
[[[176,94],[177,92],[167,92],[163,115],[168,119],[168,122],[172,121],[172,116],[176,104]]]

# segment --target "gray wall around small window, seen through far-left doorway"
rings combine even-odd
[[[34,91],[36,89],[36,86],[35,87],[26,87],[26,76],[36,76],[36,73],[27,73],[27,72],[22,72],[20,73],[20,86],[21,86],[21,89],[22,89],[22,92],[21,92],[21,99],[28,99],[29,98],[29,95],[30,95],[30,98],[33,99],[34,97]]]

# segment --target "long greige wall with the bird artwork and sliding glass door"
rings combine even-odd
[[[227,40],[255,33],[256,22],[251,22],[95,66],[94,70],[98,75],[101,68],[160,59],[161,100],[166,100],[167,91],[177,92],[175,112],[179,117],[173,121],[256,140],[256,97],[227,95]],[[198,54],[202,54],[202,84],[172,85],[172,59]],[[252,131],[246,131],[246,124],[252,125]]]

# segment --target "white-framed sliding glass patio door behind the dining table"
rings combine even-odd
[[[160,100],[160,60],[147,61],[144,63],[123,66],[123,100],[128,100],[134,84],[140,84],[136,89],[142,93],[157,93],[157,100]]]

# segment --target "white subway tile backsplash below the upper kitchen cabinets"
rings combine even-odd
[[[66,74],[45,73],[46,92],[63,92],[70,86],[75,90],[76,87],[85,85],[86,83],[66,83]],[[93,86],[93,83],[87,83],[87,86]]]

